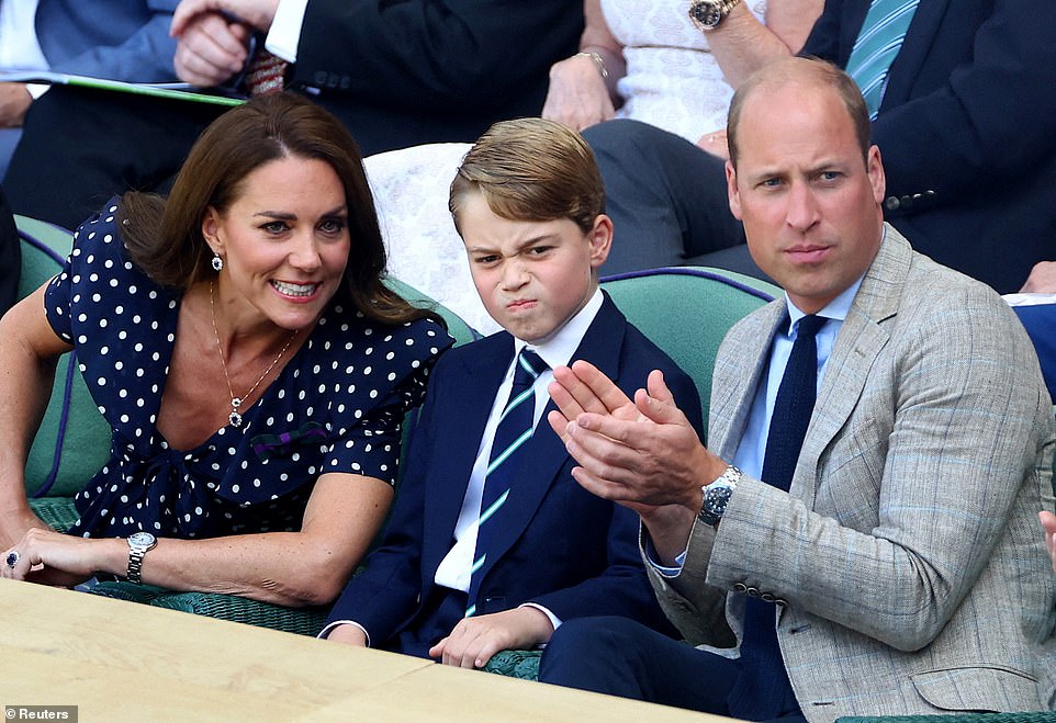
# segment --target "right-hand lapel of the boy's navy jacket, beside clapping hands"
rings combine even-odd
[[[583,336],[571,361],[584,359],[597,366],[610,380],[618,381],[620,349],[624,346],[626,326],[627,319],[606,294],[602,308],[598,309],[597,316]],[[547,414],[553,409],[557,409],[557,406],[551,400],[547,404],[536,431],[528,442],[531,447],[529,454],[518,466],[510,483],[509,497],[490,522],[495,524],[495,531],[492,532],[482,572],[484,576],[524,533],[547,492],[558,481],[562,467],[570,459],[564,449],[564,442],[547,422]],[[574,483],[570,481],[570,484]]]

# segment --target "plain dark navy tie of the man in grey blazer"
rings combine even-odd
[[[762,477],[766,484],[786,492],[791,485],[815,408],[818,391],[818,344],[815,337],[827,320],[813,315],[799,319],[796,342],[777,388],[766,437]],[[784,712],[783,702],[794,700],[777,642],[774,603],[764,602],[757,597],[745,599],[741,669],[741,676],[728,699],[731,715],[753,721],[776,718]]]

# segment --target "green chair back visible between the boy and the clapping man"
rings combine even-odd
[[[602,287],[631,324],[693,377],[705,425],[719,342],[735,321],[782,293],[765,281],[703,267],[609,276]]]

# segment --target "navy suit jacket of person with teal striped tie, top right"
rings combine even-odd
[[[827,0],[802,55],[846,67],[869,0]],[[885,216],[1001,293],[1056,259],[1056,3],[925,0],[891,66],[873,140]]]

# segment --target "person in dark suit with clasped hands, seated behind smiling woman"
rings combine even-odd
[[[204,84],[237,75],[249,37],[266,38],[293,61],[288,86],[341,118],[370,155],[472,142],[497,120],[538,115],[550,66],[575,52],[583,9],[570,0],[308,0],[301,15],[276,0],[183,0],[173,30],[180,77]],[[292,41],[278,47],[272,35]],[[225,66],[224,55],[239,63]],[[164,184],[220,112],[59,90],[33,108],[36,129],[4,188],[16,213],[67,227],[114,192]]]

